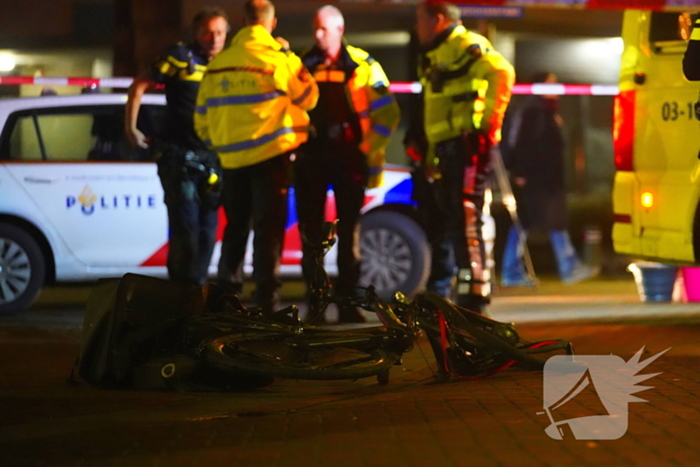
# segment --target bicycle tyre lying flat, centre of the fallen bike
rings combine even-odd
[[[248,348],[242,350],[240,344],[244,341]],[[258,345],[250,345],[256,342]],[[233,349],[234,344],[238,345],[239,348]],[[229,334],[207,342],[201,356],[211,365],[223,370],[306,380],[355,380],[374,377],[391,369],[394,363],[400,359],[400,355],[382,349],[364,351],[338,346],[335,347],[336,350],[349,350],[364,354],[367,365],[343,367],[342,361],[326,367],[314,366],[312,363],[290,365],[285,363],[284,355],[299,352],[298,345],[292,344],[292,341],[288,339],[271,339],[269,335],[251,338]],[[256,347],[264,348],[264,352],[255,350]],[[275,359],[277,360],[275,361]],[[361,359],[356,358],[356,360]],[[348,362],[352,362],[352,360],[348,360]]]

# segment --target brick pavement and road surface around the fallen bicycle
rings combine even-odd
[[[286,287],[287,300],[298,300],[298,287]],[[71,386],[83,289],[46,290],[32,310],[0,318],[0,465],[700,465],[700,303],[642,303],[631,277],[497,290],[491,307],[523,338],[568,339],[579,356],[629,362],[642,348],[642,360],[670,348],[641,371],[659,373],[636,394],[647,402],[608,410],[627,421],[619,439],[550,438],[542,372],[436,382],[425,342],[386,386],[372,378],[278,379],[248,392]],[[606,397],[582,391],[550,414],[600,415]]]

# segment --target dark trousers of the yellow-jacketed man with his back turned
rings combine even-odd
[[[255,303],[265,311],[279,307],[277,278],[289,189],[290,153],[238,169],[224,169],[223,205],[228,223],[219,261],[218,284],[227,291],[243,289],[243,262],[252,227]]]

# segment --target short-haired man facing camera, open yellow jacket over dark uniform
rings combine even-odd
[[[299,229],[307,284],[314,275],[321,241],[326,192],[333,187],[338,216],[336,295],[350,296],[359,280],[358,220],[366,187],[381,183],[384,148],[399,121],[382,67],[364,50],[343,40],[343,15],[321,7],[314,19],[316,45],[302,60],[318,82],[320,97],[310,112],[312,135],[295,166]],[[341,307],[341,322],[362,322],[356,308]],[[310,319],[316,317],[309,316]]]

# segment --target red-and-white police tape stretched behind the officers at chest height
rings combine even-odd
[[[131,86],[133,78],[54,78],[33,76],[0,76],[0,84],[34,86],[80,86],[84,88],[118,88]],[[419,82],[393,82],[389,85],[395,94],[420,94],[423,86]],[[513,86],[513,94],[518,95],[558,95],[558,96],[615,96],[619,88],[604,84],[544,84],[521,83]]]

